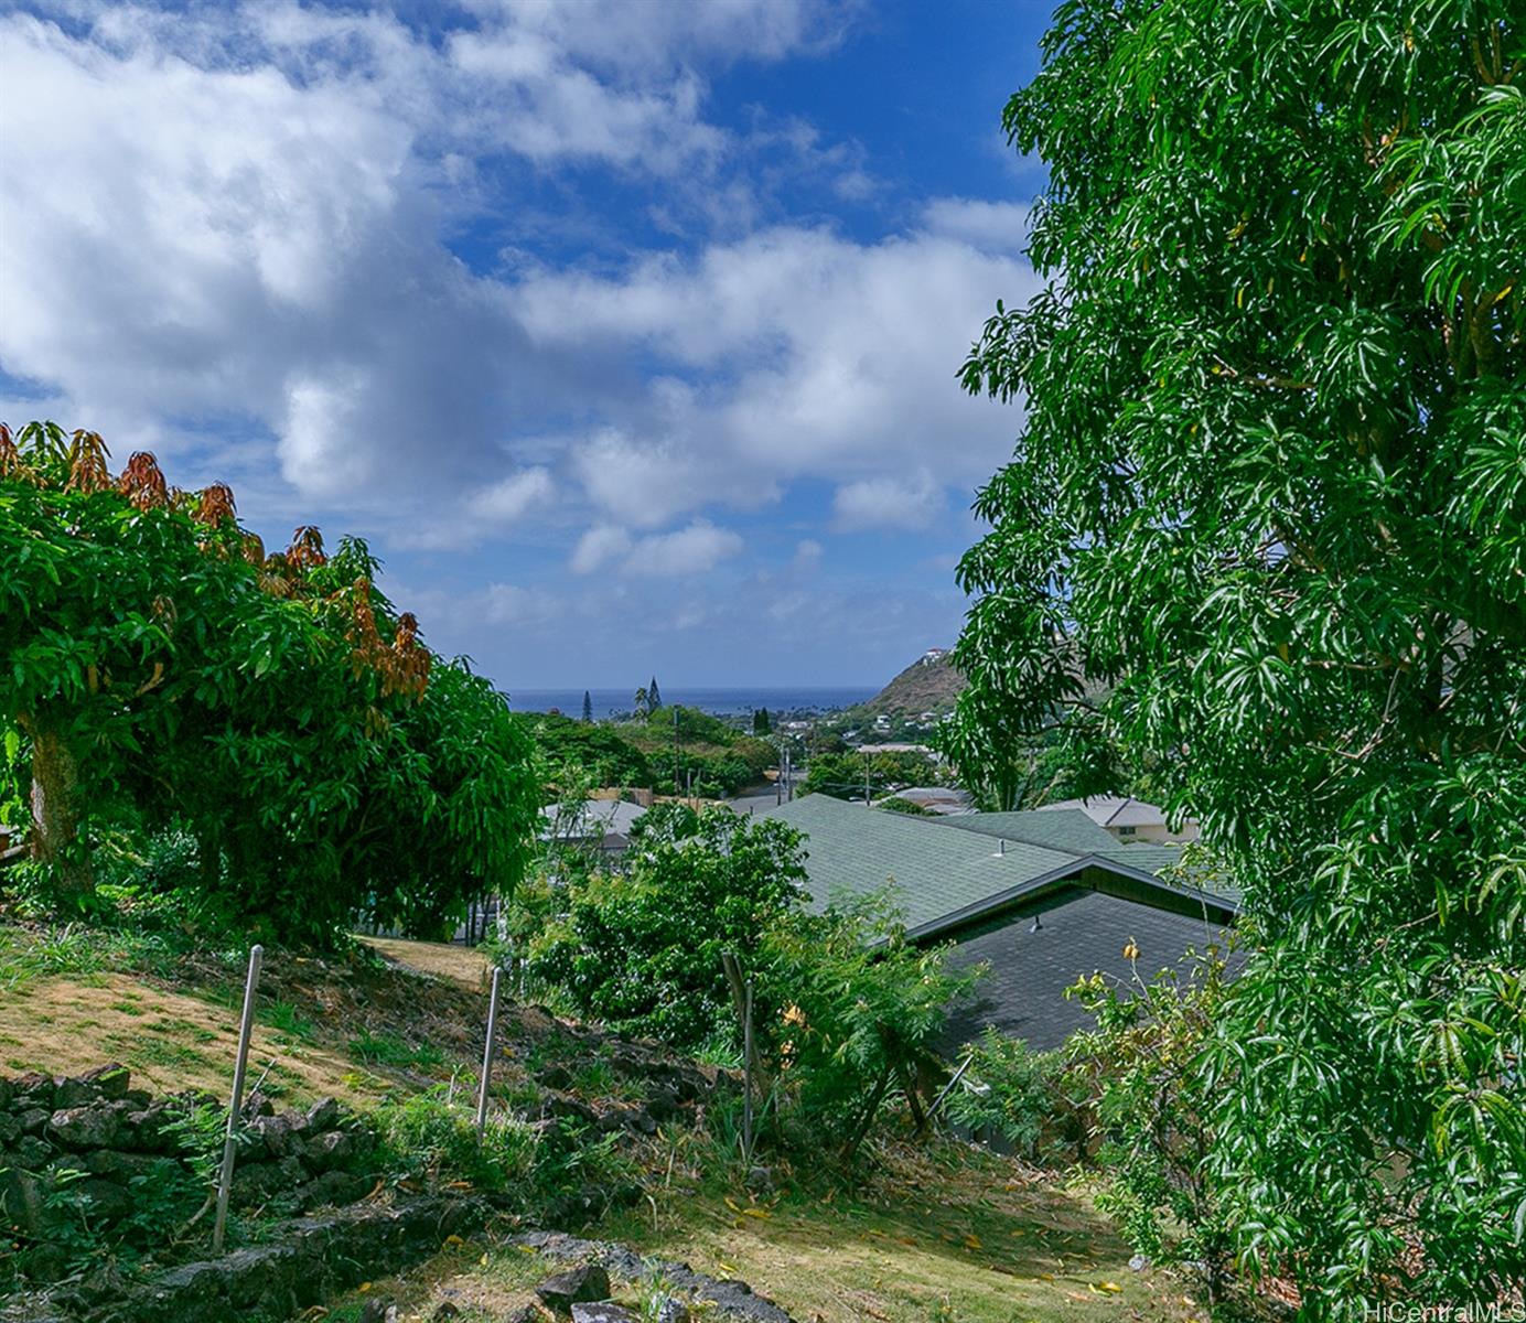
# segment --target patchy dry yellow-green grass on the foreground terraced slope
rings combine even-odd
[[[114,1059],[154,1090],[223,1093],[232,1071],[238,971],[229,961],[156,967],[153,952],[60,943],[0,928],[0,1062],[6,1073],[64,1073]],[[252,1077],[282,1102],[337,1094],[365,1108],[468,1068],[479,1044],[484,963],[456,946],[375,940],[377,969],[319,960],[267,964]],[[546,1051],[537,1012],[513,1009],[514,1056]],[[534,1032],[542,1030],[536,1039]],[[554,1030],[551,1030],[554,1035]],[[528,1036],[526,1036],[528,1035]],[[517,1036],[517,1038],[516,1038]],[[526,1047],[542,1042],[540,1048]],[[853,1196],[781,1172],[784,1193],[752,1201],[659,1135],[650,1196],[583,1234],[624,1241],[716,1277],[740,1277],[801,1323],[1015,1323],[1186,1320],[1202,1311],[1166,1274],[1132,1273],[1129,1251],[1083,1192],[960,1146],[876,1152]],[[488,1236],[403,1279],[369,1283],[328,1315],[386,1296],[404,1320],[444,1300],[488,1320],[530,1299],[539,1260]]]

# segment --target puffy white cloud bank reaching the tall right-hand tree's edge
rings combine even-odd
[[[542,346],[652,356],[664,369],[642,400],[621,401],[624,430],[578,456],[591,501],[661,523],[707,502],[774,499],[795,478],[894,478],[929,455],[951,487],[984,479],[1019,420],[967,398],[955,371],[995,298],[1035,285],[1015,258],[928,232],[858,244],[777,227],[618,276],[539,273],[517,305]],[[902,493],[902,523],[932,508],[929,484]],[[850,493],[845,513],[874,494]]]

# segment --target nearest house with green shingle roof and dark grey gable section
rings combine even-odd
[[[1239,899],[1170,876],[1180,850],[1122,845],[1080,810],[919,818],[807,795],[769,810],[806,839],[812,905],[890,885],[919,943],[954,943],[957,966],[987,963],[948,1042],[986,1025],[1059,1047],[1088,1025],[1065,989],[1094,971],[1126,980],[1222,943]],[[1166,874],[1166,876],[1161,876]]]

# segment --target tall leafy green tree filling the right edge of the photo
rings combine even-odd
[[[1070,0],[1006,110],[1045,288],[964,366],[1025,424],[958,720],[1148,765],[1244,887],[1212,1163],[1308,1317],[1526,1276],[1523,35]]]

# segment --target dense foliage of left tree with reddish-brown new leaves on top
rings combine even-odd
[[[99,436],[0,429],[0,726],[53,896],[87,903],[96,827],[183,827],[203,890],[322,938],[369,908],[430,929],[513,887],[531,745],[317,530],[266,554],[226,487],[182,493]]]

